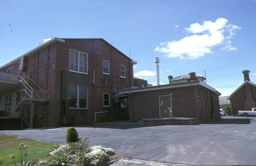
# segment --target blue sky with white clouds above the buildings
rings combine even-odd
[[[228,96],[243,70],[256,82],[255,28],[255,0],[1,0],[0,66],[53,37],[103,38],[149,83],[158,57],[161,81],[205,71]]]

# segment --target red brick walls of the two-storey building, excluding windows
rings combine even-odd
[[[88,54],[88,74],[69,71],[70,49]],[[109,61],[109,75],[102,73],[103,60]],[[108,111],[106,120],[125,119],[124,117],[127,119],[128,109],[120,108],[120,103],[114,104],[112,92],[113,89],[133,86],[133,65],[130,61],[128,57],[103,39],[65,39],[64,43],[54,43],[29,55],[26,61],[26,71],[22,73],[22,77],[34,89],[39,90],[37,84],[42,90],[47,91],[47,93],[39,92],[39,94],[49,102],[43,107],[38,106],[36,110],[45,117],[44,126],[61,126],[63,115],[66,116],[66,120],[70,120],[70,125],[92,123],[94,113],[102,111]],[[120,64],[125,66],[126,78],[120,78]],[[6,67],[4,72],[7,72],[10,67]],[[14,65],[14,71],[18,74],[17,63]],[[62,71],[66,74],[62,74]],[[28,76],[36,84],[28,79]],[[69,84],[88,87],[88,109],[68,109]],[[110,94],[110,107],[103,107],[103,93]],[[123,111],[124,117],[115,110]]]

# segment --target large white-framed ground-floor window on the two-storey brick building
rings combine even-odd
[[[68,86],[68,107],[86,109],[87,106],[87,87],[78,85]]]

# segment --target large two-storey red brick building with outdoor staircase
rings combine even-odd
[[[104,39],[51,39],[0,67],[0,126],[127,120],[126,97],[112,96],[133,86],[133,64]]]

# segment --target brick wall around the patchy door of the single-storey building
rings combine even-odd
[[[205,88],[202,90],[206,91]],[[198,118],[198,122],[210,120],[210,100],[198,98],[197,87],[172,88],[137,92],[129,96],[130,121],[159,118],[158,96],[172,93],[172,117]],[[209,95],[210,92],[208,92]],[[202,105],[202,106],[201,106]]]

